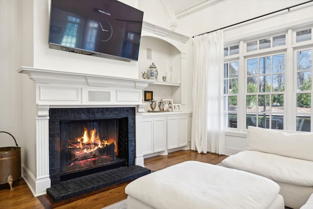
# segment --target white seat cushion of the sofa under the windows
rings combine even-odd
[[[222,163],[291,185],[313,186],[313,162],[264,152],[246,150],[231,155]]]

